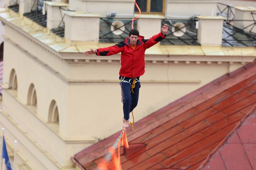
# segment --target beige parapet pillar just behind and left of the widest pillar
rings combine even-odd
[[[45,5],[47,6],[47,28],[57,28],[62,16],[64,16],[64,10],[61,7],[67,8],[68,4],[64,2],[46,1]]]

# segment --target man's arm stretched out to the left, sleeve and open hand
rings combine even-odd
[[[89,50],[84,52],[84,55],[89,55],[89,54],[96,54],[96,55],[101,55],[101,56],[108,56],[108,55],[114,55],[117,53],[120,53],[123,51],[125,47],[125,41],[122,41],[116,45],[113,45],[111,47],[106,47],[106,48],[99,48],[96,50]]]

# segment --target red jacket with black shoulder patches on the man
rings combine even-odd
[[[129,38],[124,41],[106,48],[99,48],[96,55],[108,56],[121,52],[121,68],[119,75],[123,77],[139,77],[145,73],[145,50],[160,42],[166,35],[158,33],[148,40],[139,36],[137,47],[133,49]]]

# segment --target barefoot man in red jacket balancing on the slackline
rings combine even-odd
[[[123,102],[123,127],[130,125],[130,112],[137,106],[139,99],[140,76],[145,73],[145,50],[166,37],[168,25],[161,32],[145,40],[138,30],[132,29],[124,41],[106,48],[98,48],[84,52],[84,55],[96,54],[101,56],[114,55],[121,52],[121,68],[119,79]],[[135,86],[134,86],[135,85]]]

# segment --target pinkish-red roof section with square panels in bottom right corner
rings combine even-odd
[[[228,142],[204,166],[204,170],[256,169],[256,117],[243,123]]]

